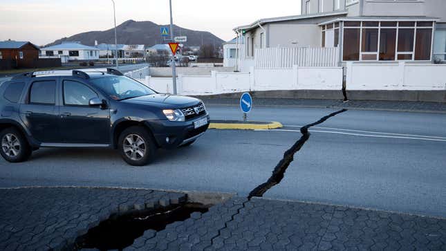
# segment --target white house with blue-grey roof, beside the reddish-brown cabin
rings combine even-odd
[[[99,49],[77,42],[63,42],[55,46],[41,48],[41,55],[46,57],[68,57],[68,60],[99,59]]]

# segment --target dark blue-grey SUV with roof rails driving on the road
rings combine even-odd
[[[111,68],[26,73],[0,86],[0,154],[39,147],[111,147],[130,165],[191,145],[210,118],[201,100],[156,93]]]

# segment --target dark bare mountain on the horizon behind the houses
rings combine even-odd
[[[118,44],[145,44],[145,46],[153,46],[154,44],[166,44],[167,41],[161,37],[160,27],[169,25],[158,25],[151,21],[133,21],[128,20],[116,26]],[[223,40],[216,37],[211,32],[189,30],[174,25],[175,36],[187,36],[185,46],[201,46],[202,44],[214,44],[221,46]],[[95,44],[115,44],[115,30],[111,28],[103,31],[82,32],[71,37],[57,39],[53,43],[46,46],[61,44],[63,41],[80,41],[81,44],[93,46]]]

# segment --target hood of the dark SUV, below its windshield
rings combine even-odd
[[[129,100],[123,100],[122,102],[133,104],[158,104],[161,106],[171,106],[172,108],[180,108],[185,106],[193,106],[201,101],[195,97],[187,97],[180,95],[170,94],[151,94],[142,97],[133,97]]]

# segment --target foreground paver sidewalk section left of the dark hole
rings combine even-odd
[[[0,189],[0,250],[63,249],[111,214],[167,206],[185,194],[147,189]]]

